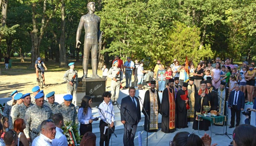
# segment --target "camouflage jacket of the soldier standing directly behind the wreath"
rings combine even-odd
[[[72,103],[70,106],[65,106],[64,102],[62,102],[62,104],[57,105],[55,113],[62,113],[64,121],[72,121],[78,124],[77,111],[75,105]]]

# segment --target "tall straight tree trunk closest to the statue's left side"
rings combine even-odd
[[[59,67],[68,67],[65,48],[65,0],[61,0],[61,34],[59,39]]]

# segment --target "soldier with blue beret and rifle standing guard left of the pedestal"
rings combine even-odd
[[[68,94],[71,94],[73,96],[73,99],[74,99],[73,103],[75,104],[78,80],[77,80],[77,71],[74,69],[75,68],[74,64],[75,64],[74,62],[71,62],[69,64],[70,69],[65,72],[63,79],[68,83],[67,84]],[[74,75],[75,75],[75,80],[71,82]]]

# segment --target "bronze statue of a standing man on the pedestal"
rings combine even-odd
[[[91,66],[92,66],[92,78],[100,78],[97,75],[97,54],[98,54],[98,42],[101,44],[100,38],[100,23],[101,18],[94,14],[95,2],[89,2],[87,4],[88,14],[83,15],[80,19],[77,32],[76,32],[76,47],[80,47],[78,43],[81,36],[82,28],[84,27],[84,58],[83,58],[83,70],[84,75],[82,78],[87,78],[89,53],[91,50]]]

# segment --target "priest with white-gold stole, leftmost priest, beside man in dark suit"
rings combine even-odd
[[[142,113],[145,115],[144,130],[147,132],[157,132],[158,130],[158,113],[160,110],[160,99],[158,91],[155,89],[155,81],[150,82],[151,88],[145,93],[143,106],[146,111],[142,108]],[[149,123],[146,112],[148,114]]]

